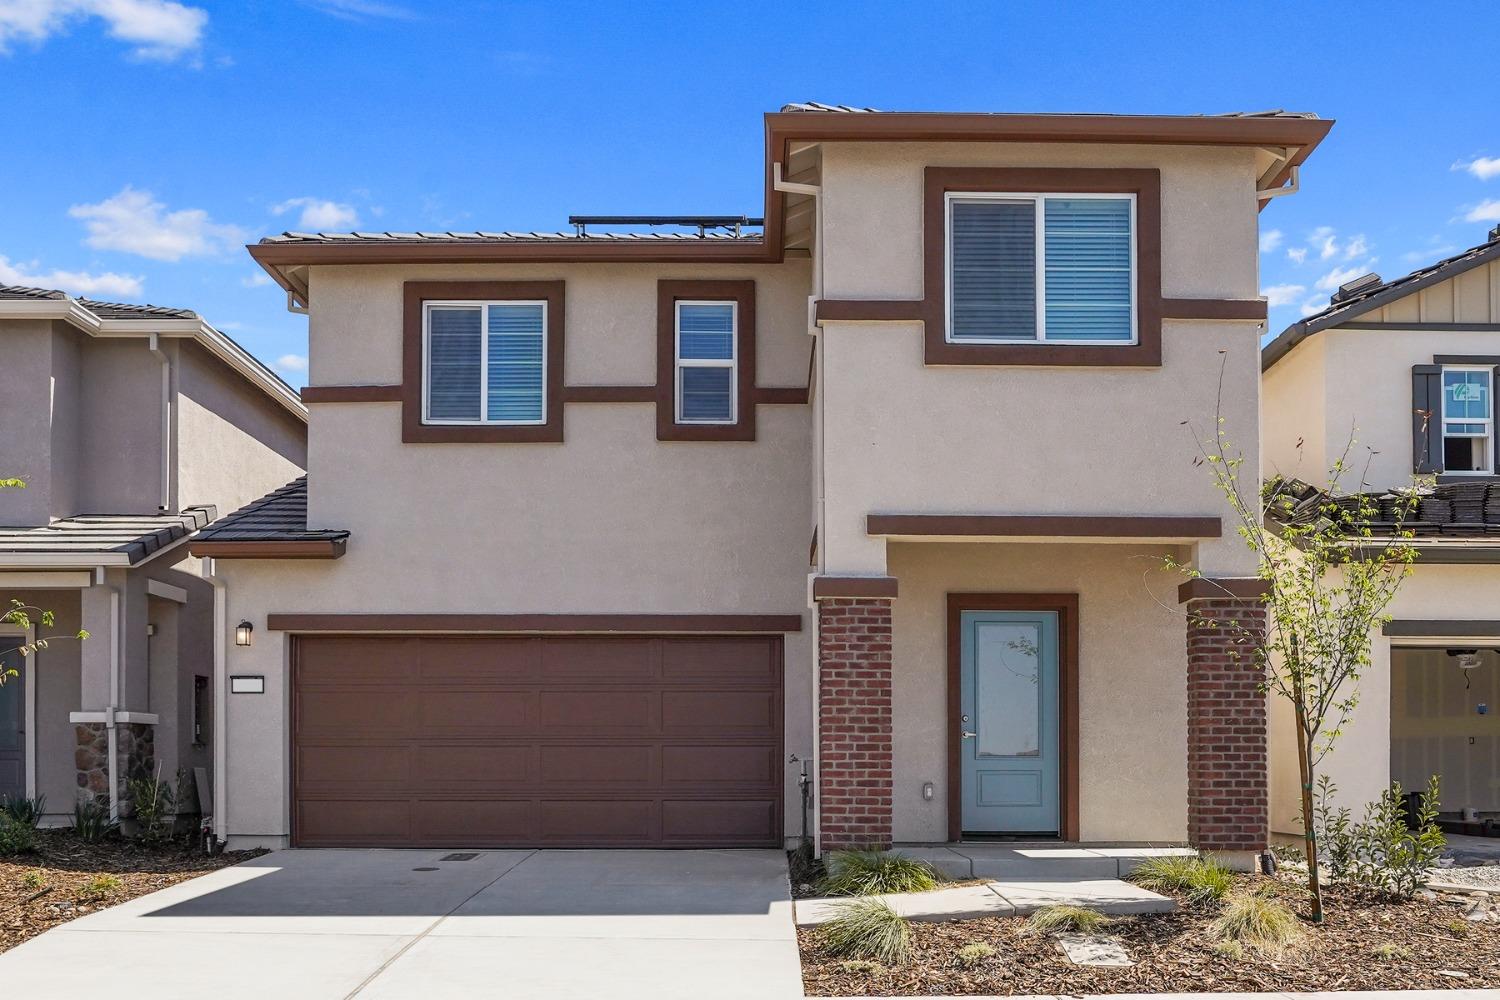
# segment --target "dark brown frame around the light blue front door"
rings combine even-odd
[[[1062,774],[1058,783],[1058,835],[1078,841],[1078,595],[948,595],[948,840],[963,840],[963,612],[1058,612],[1058,706]]]

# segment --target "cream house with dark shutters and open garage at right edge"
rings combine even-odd
[[[1500,226],[1406,277],[1344,285],[1262,364],[1268,478],[1326,484],[1353,438],[1344,490],[1378,502],[1436,480],[1408,525],[1418,562],[1324,772],[1356,813],[1390,780],[1410,792],[1438,774],[1444,813],[1500,816]],[[1272,826],[1296,832],[1288,712],[1274,714],[1272,747]]]

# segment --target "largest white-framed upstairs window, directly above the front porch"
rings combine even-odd
[[[1136,343],[1132,195],[950,195],[948,340]]]

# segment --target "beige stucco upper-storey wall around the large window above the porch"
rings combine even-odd
[[[1150,166],[1162,178],[1162,295],[1246,298],[1256,285],[1250,150],[1072,144],[836,144],[824,156],[828,298],[922,295],[922,169]],[[885,571],[880,513],[1224,514],[1197,454],[1226,430],[1256,469],[1254,324],[1167,321],[1160,369],[924,367],[921,324],[824,325],[828,573]],[[1252,570],[1204,543],[1210,574]]]

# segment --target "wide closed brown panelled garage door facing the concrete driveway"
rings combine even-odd
[[[304,847],[765,847],[776,637],[302,637]]]

